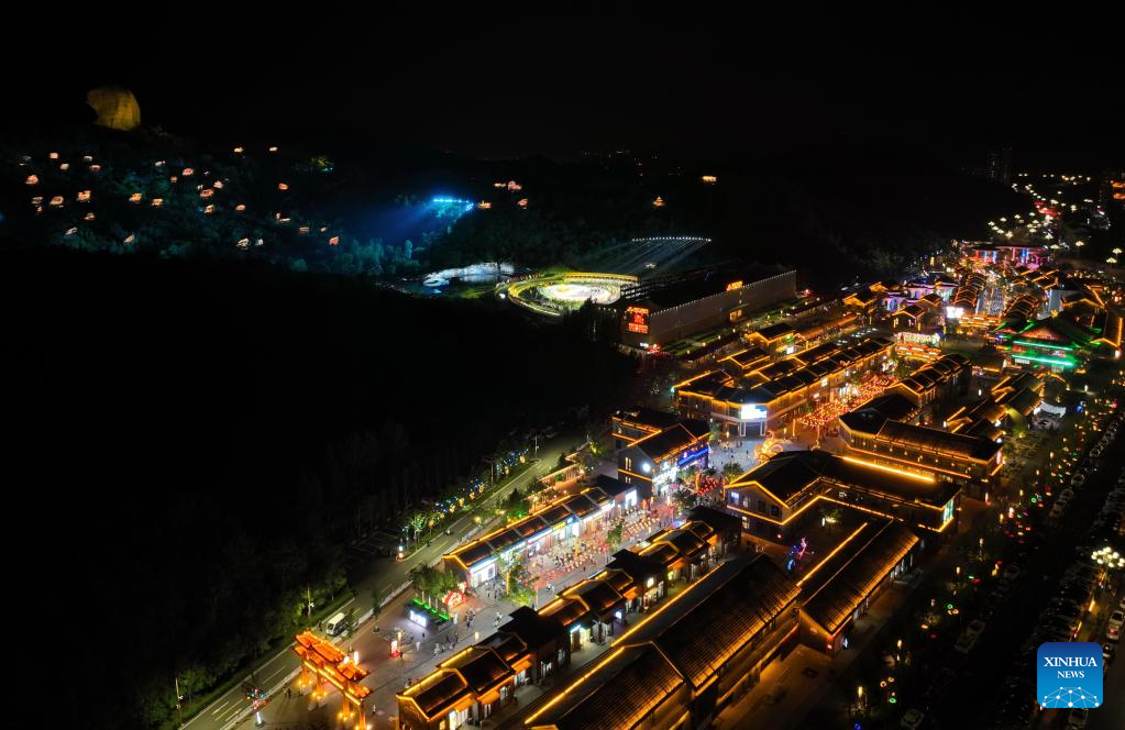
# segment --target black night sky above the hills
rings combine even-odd
[[[71,18],[18,51],[15,83],[47,118],[81,118],[87,88],[117,83],[173,132],[344,133],[476,156],[1120,148],[1108,19],[559,8]]]

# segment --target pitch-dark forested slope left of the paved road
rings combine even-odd
[[[306,587],[328,605],[357,529],[634,368],[490,303],[213,258],[3,251],[0,306],[19,592],[71,677],[56,719],[89,728],[174,720],[176,673],[198,695],[298,630]]]

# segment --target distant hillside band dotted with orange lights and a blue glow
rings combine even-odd
[[[271,152],[266,139],[93,127],[14,135],[0,144],[0,237],[399,278],[495,260],[596,268],[613,242],[696,235],[713,240],[704,256],[786,263],[828,286],[892,276],[1026,205],[950,165],[878,151],[557,163],[313,145],[281,142]]]

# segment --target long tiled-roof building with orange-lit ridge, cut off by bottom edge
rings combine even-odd
[[[554,693],[524,726],[705,727],[794,646],[798,595],[765,556],[723,564],[615,640],[604,659]]]

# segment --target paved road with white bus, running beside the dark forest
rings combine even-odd
[[[538,451],[538,460],[533,466],[512,479],[508,484],[489,495],[483,506],[476,511],[477,514],[489,514],[489,510],[500,499],[505,498],[512,489],[523,488],[528,483],[554,470],[559,457],[567,452],[575,444],[582,443],[585,433],[582,430],[568,430],[555,439],[543,442]],[[471,515],[466,515],[451,525],[451,533],[447,535],[439,533],[429,544],[411,553],[405,560],[396,561],[392,558],[380,558],[372,560],[367,569],[362,570],[363,578],[353,582],[352,591],[357,596],[353,601],[344,605],[344,609],[353,603],[357,614],[362,615],[371,609],[371,589],[378,585],[384,595],[403,585],[407,580],[411,569],[420,565],[429,565],[441,558],[451,548],[465,540],[465,537],[476,526]],[[393,604],[397,606],[397,604]],[[389,611],[393,606],[388,606]],[[400,611],[398,612],[400,614]],[[370,625],[370,624],[368,624]],[[370,628],[368,629],[370,631]],[[386,652],[384,652],[386,654]],[[272,691],[298,669],[296,655],[287,646],[284,650],[262,663],[254,672],[245,677],[246,682],[255,686]],[[184,723],[189,730],[224,730],[243,717],[250,709],[245,693],[241,685],[236,685],[230,692],[218,697],[210,705],[201,710],[195,718]]]

